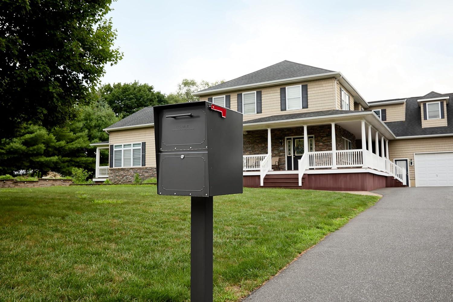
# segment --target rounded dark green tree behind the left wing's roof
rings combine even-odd
[[[138,81],[103,85],[99,88],[99,95],[117,116],[123,118],[147,106],[167,104],[164,94],[154,91],[153,86],[140,84]]]

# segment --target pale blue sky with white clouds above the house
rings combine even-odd
[[[453,1],[118,0],[124,58],[102,83],[165,94],[283,60],[340,71],[366,101],[453,93]]]

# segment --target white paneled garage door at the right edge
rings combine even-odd
[[[453,187],[453,152],[415,154],[415,187]]]

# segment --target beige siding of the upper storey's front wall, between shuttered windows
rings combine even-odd
[[[297,110],[280,110],[280,87],[307,84],[308,108]],[[328,78],[317,81],[299,82],[289,85],[270,86],[258,88],[261,90],[261,109],[262,113],[244,115],[244,120],[253,120],[271,115],[282,115],[300,112],[312,112],[321,110],[333,110],[335,108],[335,91],[334,79]],[[250,92],[253,90],[242,90],[229,92],[231,99],[231,109],[237,110],[237,94]],[[213,94],[210,96],[200,97],[201,101],[207,101],[208,97],[221,96],[222,94]],[[352,108],[352,107],[351,107]]]

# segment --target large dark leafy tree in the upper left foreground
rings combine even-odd
[[[111,2],[0,2],[0,138],[28,122],[63,125],[91,101],[105,65],[122,58]]]

